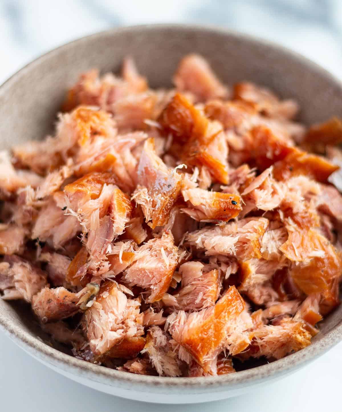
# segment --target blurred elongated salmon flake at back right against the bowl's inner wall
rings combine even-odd
[[[268,117],[293,119],[299,110],[298,103],[294,100],[280,101],[270,89],[250,82],[236,83],[233,98],[248,103],[262,115]]]

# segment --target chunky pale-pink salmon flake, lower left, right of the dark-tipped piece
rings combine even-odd
[[[140,300],[128,299],[116,283],[107,281],[84,313],[83,324],[91,351],[102,355],[123,338],[144,334]]]

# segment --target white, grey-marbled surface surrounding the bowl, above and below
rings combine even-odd
[[[200,23],[265,37],[342,76],[340,0],[0,0],[0,82],[33,58],[113,26]],[[237,398],[152,405],[88,389],[41,365],[0,335],[4,411],[341,411],[342,343],[294,375]]]

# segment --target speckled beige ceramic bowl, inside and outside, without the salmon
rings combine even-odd
[[[152,87],[170,86],[179,59],[205,56],[227,83],[251,80],[293,97],[305,123],[342,116],[342,85],[325,70],[275,44],[216,28],[154,25],[109,30],[45,54],[0,87],[0,148],[43,138],[52,129],[66,88],[90,68],[119,70],[131,54]],[[218,400],[284,377],[342,339],[342,306],[321,323],[311,346],[268,365],[219,377],[133,375],[86,363],[51,346],[27,305],[0,300],[0,326],[22,349],[77,382],[116,396],[161,403]]]

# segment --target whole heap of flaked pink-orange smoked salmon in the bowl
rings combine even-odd
[[[340,303],[342,122],[195,54],[173,83],[81,74],[53,136],[0,153],[0,290],[84,361],[224,375]]]

